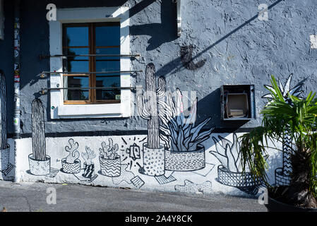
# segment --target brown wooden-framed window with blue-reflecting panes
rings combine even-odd
[[[63,24],[64,105],[121,102],[120,37],[119,22]]]

